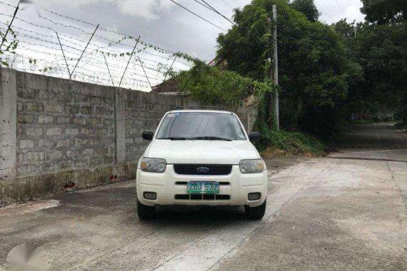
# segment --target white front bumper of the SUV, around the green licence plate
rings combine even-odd
[[[216,181],[219,182],[218,199],[187,198],[186,182]],[[177,175],[173,165],[167,165],[164,173],[148,173],[137,170],[137,198],[144,205],[249,205],[255,207],[266,200],[267,173],[242,174],[238,165],[233,165],[231,174],[223,176]],[[144,192],[156,193],[155,200],[144,198]],[[258,200],[248,200],[248,193],[261,193]],[[180,196],[181,195],[181,196]],[[179,199],[184,198],[184,199]]]

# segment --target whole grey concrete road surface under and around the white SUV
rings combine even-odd
[[[0,270],[29,240],[50,270],[407,270],[407,163],[377,159],[266,160],[261,221],[206,208],[142,222],[134,181],[12,205],[0,209]]]

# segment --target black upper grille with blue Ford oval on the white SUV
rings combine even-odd
[[[174,171],[178,175],[221,176],[231,174],[232,165],[175,164]]]

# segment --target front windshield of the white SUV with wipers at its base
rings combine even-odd
[[[156,139],[171,140],[246,140],[238,118],[228,113],[169,113]]]

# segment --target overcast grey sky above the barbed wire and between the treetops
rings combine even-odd
[[[3,0],[17,4],[17,0]],[[182,51],[210,60],[215,55],[216,37],[220,29],[206,23],[188,11],[181,9],[170,0],[31,0],[35,4],[49,7],[67,16],[73,16],[94,24],[116,29],[130,35],[141,35],[144,41]],[[195,11],[222,29],[231,24],[217,14],[205,9],[194,0],[174,0]],[[233,8],[240,8],[250,0],[206,0],[222,14],[231,17]],[[362,21],[360,0],[316,0],[321,11],[321,21],[347,18],[348,21]],[[34,16],[29,7],[19,11],[19,16]]]

